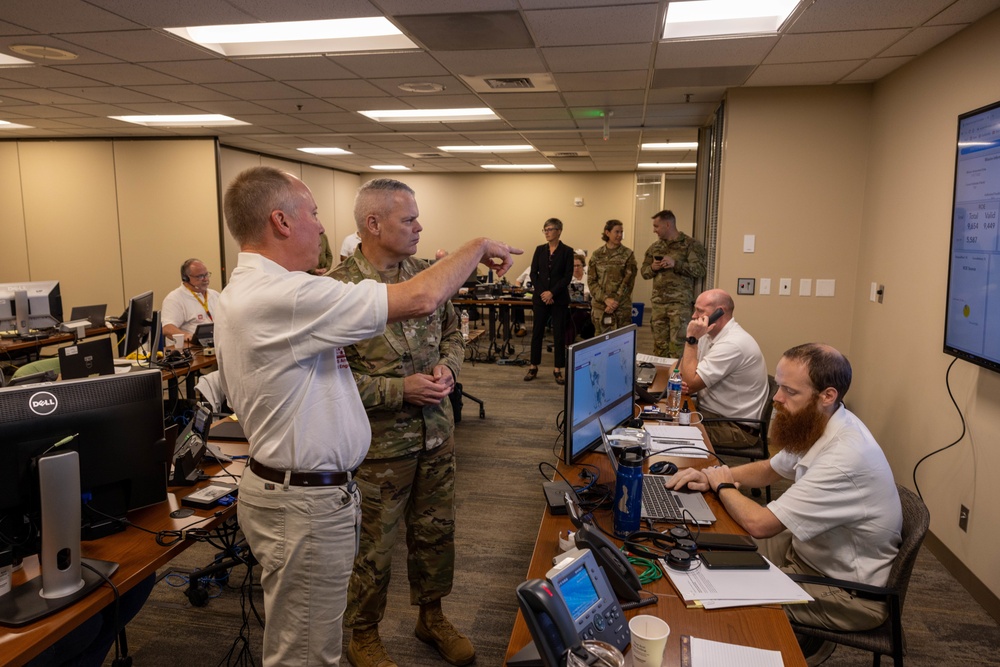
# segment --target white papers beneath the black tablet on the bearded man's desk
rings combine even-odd
[[[722,609],[812,601],[787,574],[770,561],[768,565],[766,570],[712,570],[704,565],[675,570],[663,563],[663,570],[689,607]]]

